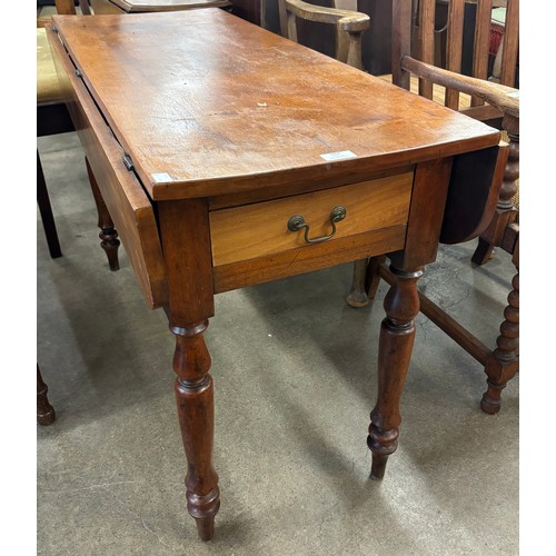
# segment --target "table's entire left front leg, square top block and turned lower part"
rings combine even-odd
[[[208,205],[205,199],[160,201],[160,232],[169,287],[170,330],[181,438],[187,457],[187,509],[202,540],[212,538],[220,507],[212,465],[215,417],[210,355],[205,344],[215,314]]]

